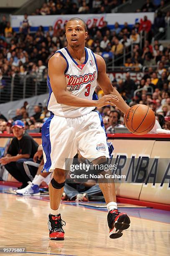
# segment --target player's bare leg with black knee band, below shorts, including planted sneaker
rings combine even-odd
[[[48,216],[48,228],[51,240],[64,240],[63,225],[66,225],[66,223],[61,219],[59,206],[67,173],[66,170],[56,168],[53,172],[53,179],[49,184],[51,212]]]

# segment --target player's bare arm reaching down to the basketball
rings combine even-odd
[[[117,97],[119,98],[119,102],[116,103],[117,108],[119,108],[119,110],[121,110],[124,114],[127,113],[127,110],[130,107],[123,100],[119,92],[112,86],[110,79],[106,74],[106,64],[104,59],[100,55],[95,54],[95,56],[98,66],[97,82],[100,88],[103,90],[105,95],[117,95]]]

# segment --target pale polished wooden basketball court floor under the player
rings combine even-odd
[[[169,255],[170,212],[119,204],[131,219],[123,236],[110,239],[104,203],[62,202],[65,240],[48,240],[49,197],[22,197],[0,186],[0,255],[165,256]],[[97,207],[96,207],[97,206]],[[4,247],[25,248],[4,253]]]

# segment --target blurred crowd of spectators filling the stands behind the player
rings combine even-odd
[[[91,9],[91,5],[93,7],[98,6],[96,8],[99,10],[99,6],[102,7],[103,5],[109,6],[109,9],[111,9],[110,6],[115,3],[122,3],[122,1],[57,0],[45,3],[39,11],[42,12],[43,9],[46,9],[48,11],[45,14],[49,14],[49,11],[51,12],[52,9],[59,5],[66,9],[64,6],[76,4],[79,8],[76,13],[81,13],[80,10],[83,10],[81,7],[86,4],[94,12],[94,9]],[[125,70],[127,75],[125,79],[114,79],[112,85],[130,106],[137,103],[150,106],[155,111],[161,127],[169,129],[170,45],[164,46],[159,40],[153,40],[153,36],[157,35],[160,28],[165,28],[170,23],[170,12],[163,13],[162,11],[165,3],[166,1],[146,0],[143,5],[142,11],[157,10],[153,27],[146,15],[139,23],[135,23],[132,27],[127,22],[124,23],[123,27],[119,26],[119,23],[116,22],[114,28],[110,29],[107,22],[104,21],[103,26],[98,28],[96,22],[94,22],[88,29],[89,34],[85,44],[94,53],[101,55],[107,63],[114,56],[115,66],[121,66],[119,70]],[[69,9],[72,10],[73,8]],[[98,11],[96,10],[95,12],[97,13]],[[19,33],[13,31],[5,15],[0,22],[0,103],[3,102],[7,95],[10,97],[10,84],[13,74],[18,76],[18,90],[23,90],[23,76],[29,74],[30,84],[33,86],[36,79],[38,81],[38,93],[45,93],[46,91],[42,91],[42,82],[46,81],[48,59],[58,49],[67,46],[65,31],[60,24],[55,29],[50,26],[48,31],[44,31],[43,27],[40,26],[36,33],[30,33],[30,26],[29,16],[26,13],[20,25]],[[164,33],[164,31],[161,33]],[[123,63],[122,58],[124,51],[130,51],[127,54],[125,63]],[[146,68],[141,73],[141,80],[132,79],[131,71],[140,72],[143,67]],[[145,90],[134,95],[135,90],[142,88]],[[14,89],[16,89],[15,79]],[[32,87],[31,91],[34,94]],[[96,92],[99,98],[103,95],[102,90],[99,88],[96,89]],[[19,95],[18,91],[17,95]],[[17,99],[17,95],[15,99]],[[109,106],[99,110],[104,117],[104,123],[106,128],[109,128],[109,131],[111,131],[114,125],[124,125],[123,115],[119,111],[115,112],[115,110],[118,111]],[[47,108],[43,108],[41,104],[35,106],[34,111],[36,117],[29,116],[26,105],[24,105],[20,110],[16,110],[16,117],[25,122],[26,130],[41,131],[42,123],[50,114]],[[113,123],[112,119],[116,121]],[[15,117],[12,120],[16,120]],[[6,123],[6,125],[8,124],[8,132],[12,120],[5,120],[5,122],[8,121]],[[109,126],[112,127],[110,128]],[[6,131],[4,123],[0,127],[2,129],[0,132]]]

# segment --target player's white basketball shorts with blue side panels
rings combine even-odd
[[[69,170],[77,150],[89,161],[100,156],[110,158],[103,120],[95,110],[77,118],[52,114],[43,124],[42,141],[43,172]]]

